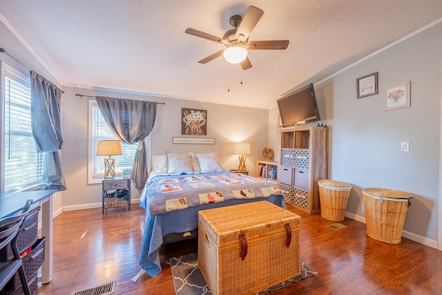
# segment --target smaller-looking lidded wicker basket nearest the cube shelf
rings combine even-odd
[[[320,216],[327,220],[343,221],[352,186],[335,180],[318,180]]]

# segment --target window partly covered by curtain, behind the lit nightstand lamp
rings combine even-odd
[[[89,100],[89,183],[96,183],[104,176],[104,157],[97,156],[99,140],[115,140],[115,136],[104,121],[102,112],[95,100]],[[115,174],[122,175],[131,171],[138,144],[122,144],[122,155],[113,155],[115,159]],[[130,172],[128,172],[130,174]]]

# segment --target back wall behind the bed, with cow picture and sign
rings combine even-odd
[[[88,184],[87,181],[88,98],[76,97],[77,93],[164,102],[164,105],[157,105],[157,117],[151,133],[152,155],[164,154],[166,151],[219,151],[225,169],[238,169],[238,155],[233,155],[233,143],[247,141],[251,144],[251,155],[247,157],[246,166],[250,174],[255,175],[255,161],[262,159],[262,149],[267,145],[267,110],[85,88],[65,87],[64,91],[66,93],[61,108],[64,133],[62,162],[68,185],[68,190],[63,193],[64,211],[102,207],[101,184]],[[181,135],[181,108],[207,110],[207,135],[203,137],[215,138],[215,144],[172,143],[173,137],[184,136]],[[131,192],[133,202],[139,202],[140,191],[133,188]]]

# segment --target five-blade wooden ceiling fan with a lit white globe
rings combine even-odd
[[[286,49],[287,46],[289,46],[289,40],[249,41],[251,31],[255,28],[256,23],[258,23],[263,14],[264,11],[260,10],[260,8],[249,6],[244,17],[233,15],[230,18],[230,24],[233,26],[233,29],[227,30],[222,38],[200,30],[188,28],[185,32],[189,35],[224,44],[224,46],[227,47],[198,62],[200,64],[206,64],[207,62],[223,55],[229,63],[241,64],[242,69],[247,70],[251,68],[251,62],[249,57],[247,57],[247,49]]]

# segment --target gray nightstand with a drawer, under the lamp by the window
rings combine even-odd
[[[103,187],[103,208],[108,213],[108,208],[127,207],[128,211],[131,211],[131,178],[110,178],[104,179],[102,182]],[[127,189],[127,196],[124,198],[106,198],[108,193],[113,193],[118,189]]]

